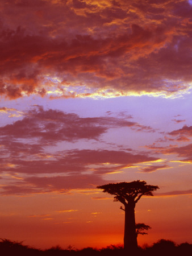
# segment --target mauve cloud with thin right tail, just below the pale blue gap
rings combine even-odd
[[[129,116],[127,118],[130,118]],[[81,118],[74,113],[60,110],[44,110],[41,106],[29,110],[22,120],[0,127],[0,135],[9,139],[41,140],[41,143],[98,139],[109,128],[131,127],[136,131],[153,131],[149,126],[130,122],[126,118],[91,117]],[[12,142],[11,142],[12,143]]]

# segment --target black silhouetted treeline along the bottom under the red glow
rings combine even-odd
[[[5,238],[0,238],[0,255],[19,255],[19,256],[119,256],[119,255],[130,255],[130,256],[187,256],[192,255],[192,244],[181,243],[176,245],[171,240],[158,240],[153,243],[152,246],[147,244],[143,247],[138,247],[138,250],[133,254],[131,251],[124,251],[122,246],[110,245],[102,249],[86,247],[78,250],[72,246],[68,246],[67,249],[62,249],[60,246],[51,247],[50,249],[40,250],[35,249],[27,245],[23,245],[23,242],[11,241]]]

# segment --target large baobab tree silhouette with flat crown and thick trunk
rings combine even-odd
[[[141,196],[153,196],[153,191],[158,186],[148,185],[144,180],[132,182],[109,183],[98,186],[103,192],[114,195],[114,201],[119,201],[124,205],[120,209],[125,212],[124,222],[124,250],[137,249],[137,234],[135,226],[135,205]]]

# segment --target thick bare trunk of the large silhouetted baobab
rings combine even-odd
[[[125,205],[124,222],[124,250],[137,250],[137,236],[135,228],[135,203]]]

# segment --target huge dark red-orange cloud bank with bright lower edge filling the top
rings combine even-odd
[[[2,0],[0,10],[3,97],[171,97],[191,88],[187,1]]]

